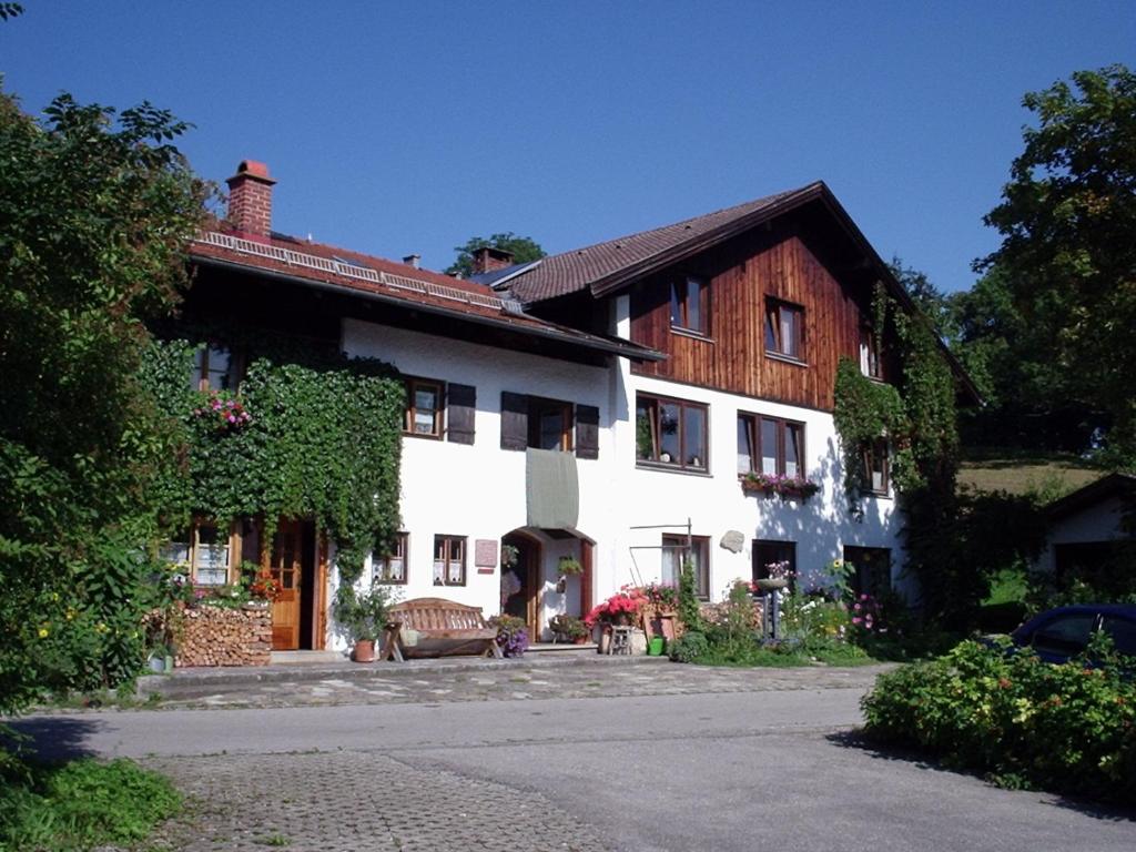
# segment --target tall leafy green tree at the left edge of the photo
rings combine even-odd
[[[137,381],[186,283],[207,186],[186,125],[0,93],[0,712],[137,670],[149,484],[170,463]]]

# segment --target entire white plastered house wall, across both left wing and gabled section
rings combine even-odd
[[[615,302],[617,333],[629,332],[628,299]],[[891,548],[893,583],[902,563],[895,502],[866,496],[864,516],[854,519],[842,486],[841,456],[832,415],[761,402],[737,394],[633,376],[625,359],[611,369],[498,350],[360,320],[344,320],[343,348],[350,356],[387,361],[407,375],[473,385],[477,389],[473,445],[403,436],[401,528],[409,533],[408,583],[403,599],[444,596],[500,610],[500,565],[479,574],[474,565],[477,540],[499,542],[526,523],[525,453],[500,449],[501,392],[525,393],[595,406],[600,409],[600,458],[578,459],[579,523],[596,542],[593,563],[595,600],[628,583],[661,578],[663,533],[709,536],[710,592],[720,600],[735,578],[751,576],[751,541],[796,543],[803,583],[819,577],[845,545]],[[705,475],[637,468],[634,406],[636,391],[692,400],[709,407],[709,469]],[[769,414],[805,424],[807,474],[821,490],[807,501],[750,496],[736,473],[738,411]],[[674,524],[673,529],[632,529]],[[719,546],[728,531],[745,538],[741,553]],[[465,586],[433,585],[436,534],[467,538]],[[543,552],[543,621],[579,605],[579,580],[570,578],[565,594],[554,591],[560,556],[578,556],[575,540],[541,537]],[[648,550],[633,551],[645,546]],[[370,575],[367,574],[367,577]],[[587,609],[587,603],[582,608]],[[334,632],[333,632],[334,634]]]

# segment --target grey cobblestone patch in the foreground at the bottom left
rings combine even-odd
[[[593,852],[596,833],[540,794],[365,752],[150,759],[191,796],[158,847],[184,852]]]

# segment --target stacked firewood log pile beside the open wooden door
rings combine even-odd
[[[191,607],[181,613],[174,665],[267,666],[273,650],[269,607]]]

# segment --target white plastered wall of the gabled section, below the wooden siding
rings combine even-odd
[[[616,332],[629,333],[629,300],[616,300]],[[658,546],[663,533],[685,529],[630,529],[654,524],[692,521],[692,534],[710,537],[710,593],[720,600],[735,578],[752,576],[751,542],[759,540],[796,543],[796,566],[802,585],[818,582],[826,563],[843,556],[845,545],[892,549],[893,585],[904,588],[900,569],[903,562],[897,537],[900,517],[895,501],[887,498],[862,498],[863,518],[857,520],[847,508],[843,488],[843,466],[833,417],[822,411],[753,400],[738,394],[711,391],[675,382],[635,376],[630,365],[620,361],[611,373],[609,394],[612,410],[619,412],[613,424],[612,452],[619,463],[613,468],[613,491],[620,496],[619,512],[613,516],[610,537],[601,541],[603,558],[598,565],[605,573],[598,577],[598,588],[618,588],[637,582],[634,567],[644,582],[661,577],[662,552],[632,546]],[[635,467],[635,393],[642,391],[676,399],[701,402],[709,407],[708,474],[683,474]],[[628,409],[630,409],[628,411]],[[797,420],[805,425],[805,474],[820,483],[820,491],[805,501],[772,496],[750,496],[742,492],[737,477],[737,415],[768,414]],[[745,537],[741,553],[719,546],[727,531],[740,531]]]

